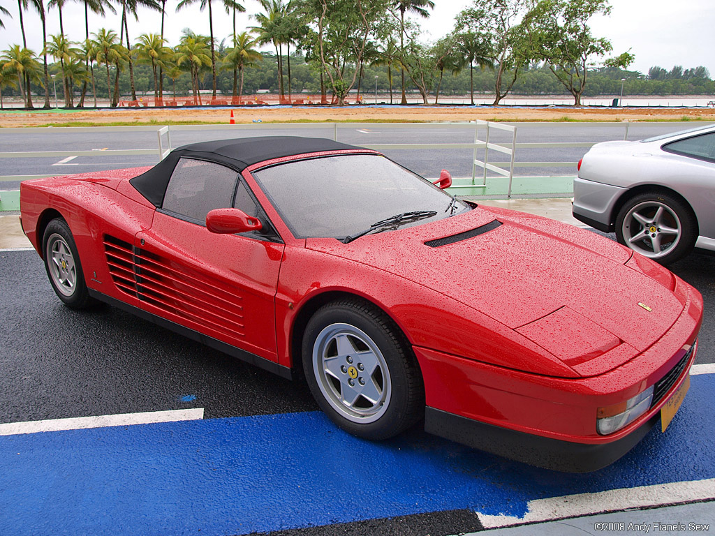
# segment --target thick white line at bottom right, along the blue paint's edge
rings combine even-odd
[[[628,508],[676,505],[712,499],[715,499],[715,478],[537,499],[528,502],[524,517],[485,515],[480,512],[476,514],[485,529],[493,529],[603,512],[620,512]]]

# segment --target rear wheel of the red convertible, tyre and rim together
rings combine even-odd
[[[64,219],[53,219],[42,237],[42,252],[49,282],[59,299],[72,309],[91,304],[82,264],[69,226]]]

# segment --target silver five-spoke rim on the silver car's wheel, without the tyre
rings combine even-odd
[[[661,259],[678,246],[682,224],[667,204],[646,201],[628,211],[621,231],[628,247],[651,259]]]

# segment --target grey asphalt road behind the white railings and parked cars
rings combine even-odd
[[[604,142],[623,139],[626,134],[625,124],[618,123],[516,123],[513,125],[517,126],[516,141],[518,143]],[[628,129],[628,139],[643,139],[682,130],[689,126],[691,124],[632,124]],[[194,129],[184,128],[186,127],[172,129],[172,147],[227,137],[292,135],[332,138],[334,135],[334,126],[323,124],[290,126],[255,124],[230,130],[214,129],[210,126]],[[365,124],[350,126],[340,124],[337,129],[338,141],[355,145],[389,144],[395,143],[396,140],[408,144],[471,143],[474,136],[475,129],[470,125]],[[492,143],[511,143],[511,137],[512,134],[507,131],[498,129],[490,131],[490,142]],[[485,139],[483,128],[479,132],[479,139],[482,141]],[[162,143],[166,144],[166,139]],[[154,156],[117,157],[102,154],[103,149],[153,149],[154,147],[157,147],[158,153],[155,131],[132,131],[131,127],[119,127],[119,131],[111,132],[96,131],[92,134],[86,131],[51,128],[0,129],[0,147],[3,148],[3,152],[44,150],[91,150],[97,152],[97,157],[82,156],[69,160],[66,160],[66,157],[4,158],[0,159],[0,176],[84,173],[122,167],[151,166],[158,161],[158,157]],[[578,159],[585,153],[585,148],[519,148],[516,151],[516,162],[578,162]],[[430,151],[390,149],[385,150],[385,154],[423,177],[438,177],[443,168],[448,169],[453,177],[471,177],[472,175],[473,150],[471,149],[432,149]],[[478,151],[477,158],[483,160],[483,157],[483,151]],[[491,151],[489,154],[489,162],[493,163],[507,164],[509,158],[507,154],[495,151]],[[572,167],[517,167],[515,174],[525,177],[574,175],[576,169]],[[19,182],[16,181],[0,183],[0,189],[18,188]]]

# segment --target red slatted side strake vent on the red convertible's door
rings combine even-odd
[[[244,335],[238,289],[109,235],[104,236],[104,254],[122,292],[217,331]]]

